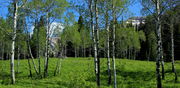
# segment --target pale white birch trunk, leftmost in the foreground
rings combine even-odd
[[[12,36],[12,45],[11,45],[11,60],[10,60],[10,67],[11,67],[11,83],[15,84],[15,71],[14,71],[14,54],[15,54],[15,40],[16,40],[16,30],[17,30],[17,12],[18,12],[18,5],[17,0],[13,1],[14,5],[14,30]]]

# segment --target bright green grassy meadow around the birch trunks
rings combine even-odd
[[[0,88],[97,88],[94,75],[93,58],[66,58],[62,60],[60,74],[53,76],[56,58],[49,60],[49,76],[40,79],[33,69],[33,78],[28,77],[27,60],[21,60],[16,84],[10,84],[9,61],[0,61]],[[43,59],[42,59],[43,72]],[[101,88],[113,88],[107,85],[107,59],[101,59]],[[15,69],[17,61],[15,61]],[[37,60],[36,60],[37,64]],[[118,88],[155,88],[155,62],[116,59]],[[180,79],[180,61],[176,62]],[[180,88],[180,82],[174,82],[171,63],[165,63],[163,88]],[[42,73],[43,74],[43,73]]]

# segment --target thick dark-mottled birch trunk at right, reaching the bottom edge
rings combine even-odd
[[[160,59],[161,59],[161,25],[160,25],[160,1],[156,0],[156,13],[157,13],[157,59],[156,59],[156,76],[157,76],[157,88],[162,88],[161,75],[160,75]]]

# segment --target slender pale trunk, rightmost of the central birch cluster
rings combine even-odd
[[[116,21],[116,12],[115,12],[115,2],[112,0],[112,9],[113,9],[113,41],[112,41],[112,54],[113,54],[113,70],[114,70],[114,88],[117,88],[117,83],[116,83],[116,61],[115,61],[115,21]]]

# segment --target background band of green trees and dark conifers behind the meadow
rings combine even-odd
[[[79,8],[79,7],[77,7]],[[179,60],[180,47],[179,41],[179,18],[178,16],[171,16],[171,14],[179,14],[179,6],[173,8],[174,12],[166,11],[162,16],[162,41],[163,41],[163,56],[166,61],[171,60],[171,30],[174,31],[174,56],[176,60]],[[86,11],[86,9],[84,9]],[[72,13],[71,13],[72,15]],[[71,21],[72,17],[65,22],[62,33],[59,33],[57,37],[59,40],[56,44],[56,49],[51,50],[52,57],[58,57],[61,49],[64,56],[68,57],[92,57],[93,56],[93,41],[92,31],[88,23],[88,15],[79,16],[78,22]],[[33,34],[30,37],[30,46],[33,57],[37,58],[44,56],[45,53],[45,41],[46,41],[46,19],[45,16],[39,17],[34,21]],[[105,18],[105,16],[104,16]],[[15,48],[15,58],[27,58],[28,46],[26,44],[28,36],[24,29],[27,29],[26,22],[24,21],[25,15],[22,15],[18,19],[17,24],[17,39]],[[173,27],[170,29],[170,20],[173,20]],[[1,44],[2,47],[1,58],[9,59],[11,51],[11,32],[12,26],[7,24],[13,24],[11,16],[6,19],[1,18]],[[140,24],[138,27],[127,25],[125,21],[117,21],[116,19],[116,40],[115,40],[115,55],[117,58],[129,58],[139,60],[152,60],[156,59],[157,39],[156,39],[156,24],[153,15],[146,16],[145,24]],[[29,30],[27,29],[29,32]],[[32,31],[32,30],[31,30]],[[110,25],[110,42],[112,40],[112,25]],[[100,57],[107,56],[107,33],[105,28],[101,28],[100,31]],[[110,43],[111,44],[111,43]],[[110,45],[112,47],[112,45]],[[50,47],[51,48],[51,47]],[[112,53],[110,51],[110,53]],[[110,54],[111,55],[111,54]]]

